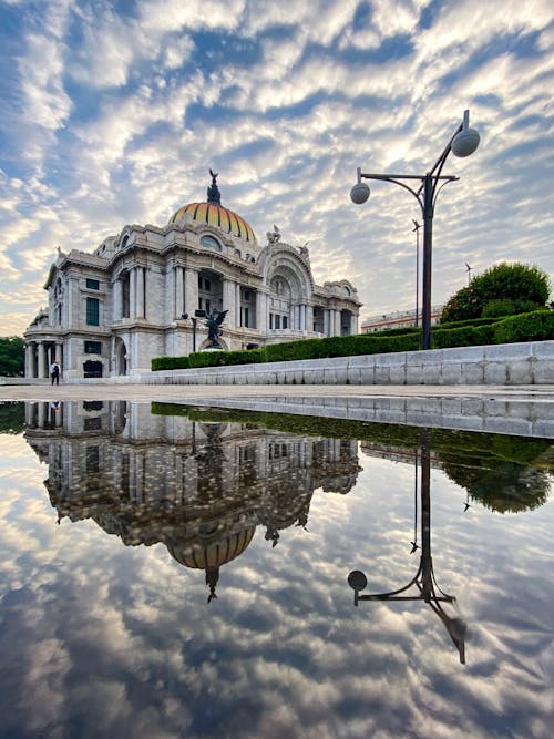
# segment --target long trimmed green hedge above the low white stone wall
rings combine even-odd
[[[509,316],[504,319],[474,319],[456,324],[441,324],[433,328],[434,349],[475,347],[516,341],[554,339],[554,311],[536,310]],[[334,336],[325,339],[302,339],[270,343],[263,349],[245,351],[201,351],[188,357],[156,357],[153,370],[188,369],[191,367],[224,367],[259,362],[291,361],[295,359],[327,359],[357,355],[416,351],[420,348],[420,332],[414,327],[389,329],[377,333]]]

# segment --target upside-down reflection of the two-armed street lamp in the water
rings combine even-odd
[[[360,601],[424,601],[442,620],[450,638],[454,643],[462,665],[465,664],[465,623],[461,618],[449,616],[442,608],[443,603],[455,605],[455,597],[447,595],[437,585],[433,573],[433,561],[431,557],[431,432],[422,429],[421,432],[421,558],[418,572],[403,587],[390,593],[376,593],[360,595],[368,584],[366,575],[359,569],[353,569],[348,575],[348,584],[353,589],[353,605]],[[417,515],[417,507],[416,507]],[[412,542],[412,553],[416,551],[416,542]],[[416,586],[414,595],[407,595],[412,586]]]

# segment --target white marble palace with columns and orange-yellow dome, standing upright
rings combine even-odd
[[[360,302],[347,280],[318,286],[306,247],[276,226],[260,245],[244,218],[207,201],[181,207],[163,227],[125,226],[93,252],[59,249],[48,308],[28,327],[25,377],[45,378],[55,358],[64,378],[148,370],[154,357],[208,345],[196,310],[227,310],[224,349],[358,332]],[[187,318],[184,318],[187,315]]]

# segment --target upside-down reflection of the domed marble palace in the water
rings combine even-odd
[[[314,491],[348,493],[360,470],[352,440],[153,415],[125,401],[29,403],[25,420],[59,521],[93,519],[126,545],[163,542],[206,572],[211,598],[219,567],[258,525],[275,546],[284,528],[306,526]]]

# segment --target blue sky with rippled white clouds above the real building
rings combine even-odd
[[[550,0],[0,0],[0,310],[20,333],[55,247],[204,199],[260,242],[309,242],[316,281],[346,277],[361,316],[411,309],[421,220],[356,167],[421,175],[463,111],[435,213],[432,301],[493,263],[554,277]]]

